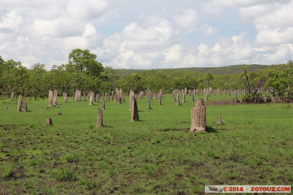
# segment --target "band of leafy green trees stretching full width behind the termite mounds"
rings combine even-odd
[[[4,61],[0,56],[0,96],[15,95],[34,98],[45,98],[49,90],[57,89],[58,94],[66,92],[73,95],[76,89],[86,93],[109,93],[116,88],[129,93],[146,91],[171,93],[174,89],[247,89],[251,96],[260,91],[270,90],[275,98],[291,101],[293,84],[293,62],[270,65],[265,69],[255,70],[259,65],[246,65],[241,72],[233,74],[214,74],[198,72],[191,69],[158,69],[139,70],[139,73],[120,74],[121,70],[103,65],[96,61],[96,55],[88,50],[74,49],[69,54],[67,64],[53,65],[50,70],[45,64],[35,63],[31,68],[21,65],[12,59]],[[240,65],[231,66],[239,69]],[[263,67],[264,65],[260,65]],[[228,66],[229,67],[229,66]],[[252,68],[254,67],[254,68]],[[217,67],[215,70],[226,69]],[[238,70],[237,70],[238,71]],[[221,71],[219,71],[221,72]],[[251,97],[249,97],[251,98]]]

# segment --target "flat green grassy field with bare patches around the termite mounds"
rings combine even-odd
[[[209,102],[228,97],[212,94]],[[204,194],[205,185],[293,186],[293,109],[282,109],[288,104],[207,103],[208,132],[193,133],[195,102],[188,95],[180,106],[171,95],[161,106],[153,99],[150,110],[144,96],[137,100],[141,121],[133,122],[128,97],[106,102],[99,128],[101,102],[68,100],[59,97],[60,108],[49,110],[47,99],[28,101],[29,111],[20,113],[17,100],[0,100],[0,194]],[[212,125],[218,115],[224,124]],[[47,116],[52,126],[44,126]]]

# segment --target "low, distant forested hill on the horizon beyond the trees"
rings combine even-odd
[[[132,73],[139,73],[140,75],[149,75],[154,71],[156,72],[164,72],[167,70],[179,71],[179,72],[199,72],[199,73],[211,73],[213,75],[219,74],[234,74],[234,73],[241,73],[242,67],[247,66],[249,72],[255,72],[258,69],[265,69],[265,68],[273,68],[277,65],[260,65],[260,64],[243,64],[243,65],[231,65],[231,66],[221,66],[221,67],[193,67],[193,68],[172,68],[172,69],[151,69],[151,70],[142,70],[142,69],[117,69],[117,73],[119,75],[129,75]]]

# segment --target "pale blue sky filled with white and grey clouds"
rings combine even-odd
[[[293,0],[1,0],[0,56],[153,69],[280,64],[293,59]]]

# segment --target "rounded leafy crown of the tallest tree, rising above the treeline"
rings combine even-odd
[[[79,73],[86,73],[88,76],[99,76],[103,71],[103,65],[96,61],[97,55],[91,54],[88,49],[73,49],[69,56],[67,69]]]

